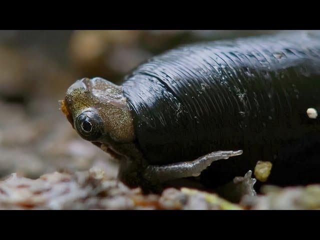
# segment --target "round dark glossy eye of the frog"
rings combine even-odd
[[[78,115],[74,126],[80,136],[89,141],[95,141],[102,135],[103,122],[100,116],[92,111]]]

